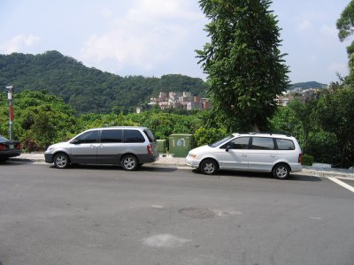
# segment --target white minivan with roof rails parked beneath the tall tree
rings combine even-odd
[[[302,151],[294,137],[273,133],[233,133],[209,146],[189,151],[192,168],[212,175],[217,170],[272,172],[274,178],[288,178],[301,171]]]

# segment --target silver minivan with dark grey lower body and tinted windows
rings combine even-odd
[[[46,163],[65,169],[70,163],[120,164],[135,170],[158,160],[157,140],[146,127],[90,129],[72,140],[51,145],[44,153]]]

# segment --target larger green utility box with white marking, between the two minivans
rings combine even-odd
[[[169,140],[169,151],[174,157],[186,157],[193,146],[192,134],[171,134]]]

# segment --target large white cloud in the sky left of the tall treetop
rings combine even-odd
[[[81,49],[84,61],[113,61],[116,70],[127,65],[151,71],[155,64],[171,59],[188,38],[193,38],[193,25],[204,19],[200,12],[187,11],[189,0],[135,0],[117,18],[103,9],[105,18],[112,18],[109,30],[91,34]]]

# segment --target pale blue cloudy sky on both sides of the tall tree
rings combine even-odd
[[[350,0],[273,0],[292,83],[348,73],[336,20]],[[196,49],[209,42],[197,0],[0,0],[0,54],[58,50],[120,76],[206,79]]]

